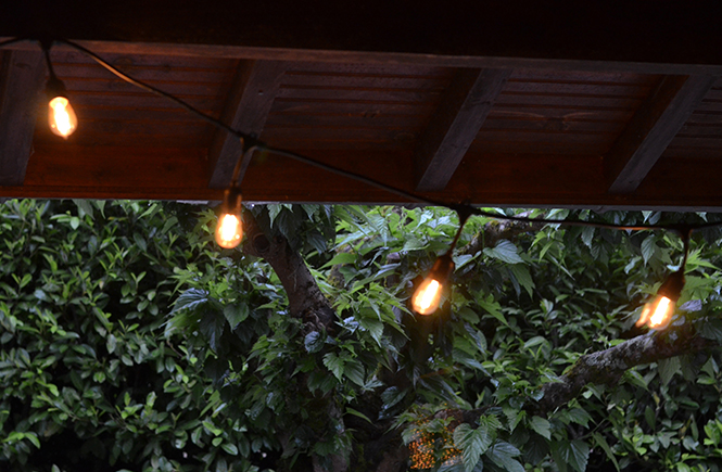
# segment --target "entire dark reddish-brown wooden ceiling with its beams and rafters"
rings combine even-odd
[[[273,146],[433,200],[722,209],[719,8],[162,3],[0,7],[0,37],[77,40]],[[78,130],[48,129],[37,43],[3,49],[0,196],[219,200],[238,142],[68,47],[51,58]],[[242,189],[401,201],[273,154]]]

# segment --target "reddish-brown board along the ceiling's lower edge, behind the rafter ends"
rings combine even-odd
[[[300,151],[414,189],[410,151]],[[99,154],[104,158],[93,169]],[[0,197],[219,200],[221,192],[207,188],[203,154],[203,149],[36,145],[25,184],[0,187]],[[593,154],[470,152],[446,189],[427,195],[482,206],[722,209],[722,160],[664,158],[653,169],[654,178],[625,195],[607,193],[603,166]],[[243,191],[249,202],[403,203],[382,190],[275,155],[251,163]]]

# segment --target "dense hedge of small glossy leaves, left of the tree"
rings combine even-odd
[[[174,271],[212,261],[183,209],[10,201],[1,218],[0,469],[252,470],[207,350],[163,335]]]

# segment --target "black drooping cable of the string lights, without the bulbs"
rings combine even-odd
[[[20,41],[22,39],[12,39],[9,41],[0,42],[0,47]],[[156,95],[163,97],[167,100],[173,101],[174,103],[178,104],[179,106],[186,109],[188,112],[192,113],[193,115],[198,116],[199,118],[212,124],[213,126],[220,128],[231,136],[237,137],[238,139],[241,140],[241,144],[244,148],[244,154],[248,153],[253,153],[253,151],[265,151],[268,153],[273,153],[276,155],[281,155],[286,157],[293,158],[295,161],[299,161],[301,163],[320,168],[322,170],[333,173],[335,175],[346,177],[353,180],[356,180],[358,182],[368,184],[370,187],[376,187],[377,189],[383,190],[389,193],[393,193],[395,195],[402,196],[406,200],[409,200],[411,202],[417,202],[417,203],[422,203],[425,205],[431,205],[431,206],[445,206],[447,208],[456,211],[459,216],[461,215],[467,215],[464,219],[466,221],[466,218],[470,215],[474,216],[482,216],[486,218],[493,218],[497,220],[506,220],[506,221],[516,221],[516,222],[527,222],[530,225],[533,224],[542,224],[542,225],[563,225],[563,226],[571,226],[571,227],[586,227],[586,228],[599,228],[599,229],[611,229],[611,230],[626,230],[626,231],[650,231],[650,230],[672,230],[672,231],[680,231],[681,229],[687,229],[688,232],[699,230],[699,229],[706,229],[706,228],[713,228],[713,227],[720,227],[722,226],[722,221],[719,222],[706,222],[706,224],[699,224],[699,225],[615,225],[615,224],[607,224],[607,222],[596,222],[596,221],[583,221],[583,220],[558,220],[558,219],[550,219],[550,218],[525,218],[525,217],[520,217],[520,216],[507,216],[507,215],[498,215],[495,213],[486,212],[477,207],[473,207],[471,205],[467,204],[458,204],[458,203],[451,203],[451,202],[444,202],[444,201],[438,201],[433,199],[429,199],[427,196],[414,193],[414,192],[408,192],[403,189],[398,189],[396,187],[380,182],[378,180],[375,180],[370,177],[363,176],[360,174],[351,171],[351,170],[344,170],[339,167],[334,167],[332,165],[326,164],[324,162],[317,161],[313,157],[308,157],[303,154],[295,153],[293,151],[280,149],[280,148],[274,148],[269,146],[263,141],[259,141],[255,136],[245,133],[243,131],[240,131],[238,129],[232,128],[231,126],[223,123],[221,120],[214,118],[211,115],[207,115],[197,107],[192,106],[190,103],[170,94],[167,93],[161,89],[157,89],[149,84],[143,82],[142,80],[138,80],[119,69],[117,69],[115,66],[110,64],[107,61],[96,54],[94,52],[88,50],[87,48],[73,42],[68,41],[65,39],[59,39],[55,42],[61,43],[61,44],[66,44],[86,55],[88,55],[90,59],[99,63],[101,66],[105,67],[107,71],[119,77],[121,79],[127,81],[128,84],[131,84],[140,89],[143,89],[148,92],[154,93]],[[250,154],[249,154],[250,155]],[[238,183],[238,174],[240,173],[241,168],[241,162],[242,158],[238,160],[238,163],[236,165],[236,168],[233,169],[233,182]]]

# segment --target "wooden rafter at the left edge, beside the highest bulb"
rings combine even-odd
[[[22,186],[46,73],[42,53],[5,52],[1,69],[0,186]]]

